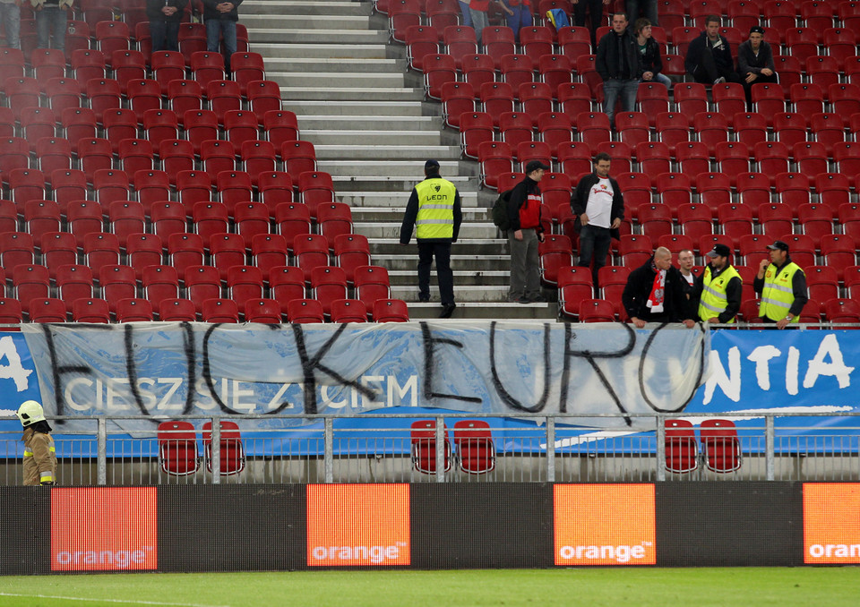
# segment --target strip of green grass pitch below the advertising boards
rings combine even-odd
[[[826,605],[856,607],[860,568],[303,571],[0,577],[0,606]]]

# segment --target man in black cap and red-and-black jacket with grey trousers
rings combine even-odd
[[[511,288],[508,301],[543,303],[540,295],[538,242],[544,242],[540,224],[540,188],[547,167],[540,160],[526,165],[526,177],[513,186],[508,197],[508,246],[511,249]]]

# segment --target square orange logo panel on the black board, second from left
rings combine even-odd
[[[408,484],[307,486],[307,564],[409,565]]]

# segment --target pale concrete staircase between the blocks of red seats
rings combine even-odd
[[[489,216],[496,193],[479,189],[477,163],[461,159],[460,134],[443,126],[438,103],[425,100],[421,74],[409,72],[406,49],[389,42],[387,18],[373,14],[372,2],[246,0],[240,20],[411,318],[440,311],[435,278],[431,302],[417,301],[417,252],[399,243],[403,209],[427,158],[439,160],[463,202],[452,249],[454,318],[555,318],[555,303],[507,302],[507,242]]]

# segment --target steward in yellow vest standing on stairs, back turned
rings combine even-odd
[[[430,301],[430,267],[436,260],[436,279],[442,313],[439,318],[451,318],[454,308],[454,275],[451,270],[451,244],[460,233],[462,211],[460,192],[447,179],[439,176],[439,163],[427,160],[425,180],[412,189],[403,224],[400,226],[400,244],[409,244],[412,229],[416,228],[418,243],[418,301]]]

